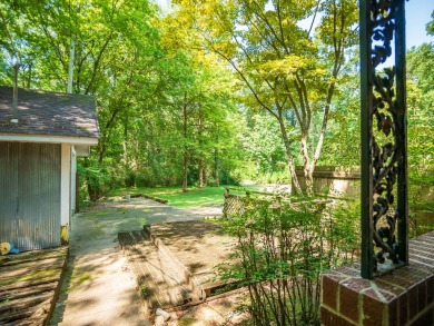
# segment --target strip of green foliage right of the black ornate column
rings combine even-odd
[[[432,26],[432,24],[431,24]],[[428,27],[430,28],[430,27]],[[430,30],[428,30],[430,31]],[[408,179],[414,235],[432,229],[426,216],[434,214],[434,43],[423,43],[407,53]],[[431,227],[428,226],[431,225]]]

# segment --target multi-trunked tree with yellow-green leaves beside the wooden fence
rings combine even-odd
[[[209,0],[179,6],[209,48],[238,72],[256,105],[277,119],[288,169],[300,191],[287,130],[288,119],[297,122],[310,192],[345,50],[357,41],[356,2]],[[306,20],[307,29],[300,27]],[[313,117],[318,112],[320,128],[314,144]]]

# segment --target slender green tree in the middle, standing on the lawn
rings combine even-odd
[[[183,190],[187,190],[187,174],[194,162],[197,164],[199,188],[205,182],[206,166],[214,166],[213,177],[218,186],[218,152],[233,148],[230,138],[234,138],[234,132],[230,130],[235,130],[230,127],[234,122],[228,119],[234,115],[230,102],[231,75],[214,53],[206,51],[191,26],[185,23],[185,16],[174,13],[166,17],[162,30],[162,45],[168,55],[181,56],[184,61],[179,69],[188,70],[178,75],[187,78],[170,90],[172,100],[178,102],[177,111],[183,111]]]

